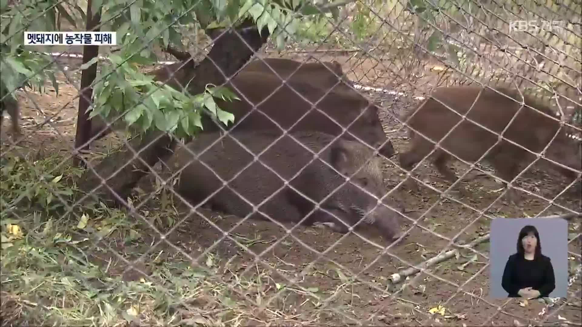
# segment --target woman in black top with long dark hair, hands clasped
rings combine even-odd
[[[548,297],[555,289],[551,260],[542,254],[540,234],[527,225],[517,237],[517,253],[505,264],[501,286],[509,297]]]

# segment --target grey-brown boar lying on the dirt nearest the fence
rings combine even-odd
[[[354,186],[357,184],[378,198],[384,196],[381,165],[374,152],[360,143],[339,139],[325,149],[318,159],[309,163],[314,155],[305,147],[317,153],[325,144],[331,143],[333,137],[312,131],[300,131],[292,135],[303,145],[293,140],[289,134],[277,141],[278,136],[272,131],[229,132],[221,140],[218,140],[221,138],[220,133],[199,134],[186,147],[179,146],[176,149],[175,154],[166,161],[168,170],[163,173],[162,178],[167,179],[172,174],[179,176],[175,190],[190,204],[202,204],[215,211],[242,218],[250,214],[253,208],[232,190],[236,190],[253,205],[259,205],[275,194],[260,205],[258,210],[275,221],[299,223],[311,212],[314,203],[290,187],[283,187],[283,180],[266,168],[267,165],[283,179],[289,180],[290,186],[316,202],[321,202],[340,187],[320,208],[332,212],[347,225],[353,226],[364,218],[357,227],[374,226],[389,241],[400,236],[398,213],[382,203],[378,204],[378,200]],[[258,155],[269,145],[272,146],[258,156],[258,161],[253,162],[254,155],[233,138],[254,155]],[[217,142],[211,145],[215,141]],[[195,159],[193,154],[200,157]],[[328,162],[347,177],[354,173],[355,175],[346,182],[345,177],[322,161]],[[204,162],[214,173],[200,162]],[[253,163],[243,170],[251,162]],[[360,167],[362,168],[359,172],[356,172]],[[301,169],[303,171],[300,172]],[[241,170],[242,173],[235,177]],[[299,175],[293,178],[296,173]],[[228,183],[228,187],[206,200],[223,185],[217,175],[226,182],[233,177],[234,179]],[[281,187],[283,189],[278,191]],[[259,212],[254,212],[250,218],[268,219]],[[313,225],[316,222],[340,233],[347,233],[349,230],[346,225],[321,209],[314,211],[303,223]]]

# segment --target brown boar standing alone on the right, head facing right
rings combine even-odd
[[[489,130],[501,134],[520,108],[521,96],[519,91],[510,88],[499,87],[496,90],[511,98],[496,93],[491,88],[478,86],[436,88],[431,97],[420,104],[420,108],[416,113],[414,113],[416,110],[410,111],[402,119],[404,121],[414,113],[408,122],[409,126],[435,142],[441,140],[459,122],[461,119],[459,115],[464,114],[467,114],[467,119],[471,119]],[[480,92],[481,94],[479,94]],[[478,100],[475,101],[477,97]],[[449,110],[435,99],[449,106],[455,112]],[[473,102],[475,102],[473,108],[467,113]],[[548,106],[527,96],[524,97],[524,103],[526,106],[521,109],[513,122],[511,122],[503,137],[533,152],[541,152],[558,131],[560,123],[540,113],[543,112],[546,115],[555,117]],[[538,109],[540,112],[530,107]],[[441,141],[441,147],[464,161],[475,162],[498,141],[498,134],[491,133],[468,120],[464,120],[449,136]],[[410,138],[410,150],[399,155],[400,166],[406,170],[413,168],[435,146],[412,130],[410,130]],[[564,129],[559,131],[555,140],[549,145],[545,157],[575,170],[580,171],[582,169],[580,142],[567,136]],[[452,159],[452,156],[439,149],[433,153],[431,161],[445,179],[455,182],[457,176],[446,166],[450,159]],[[486,155],[484,161],[491,163],[498,177],[509,182],[519,174],[520,169],[525,168],[534,159],[535,155],[503,139]],[[542,163],[547,165],[549,162]],[[576,172],[558,165],[551,164],[551,167],[572,180],[577,176]],[[416,183],[412,179],[410,179],[409,185],[416,187]],[[463,188],[459,190],[464,191]],[[508,193],[512,200],[517,200],[514,192],[508,191]]]

